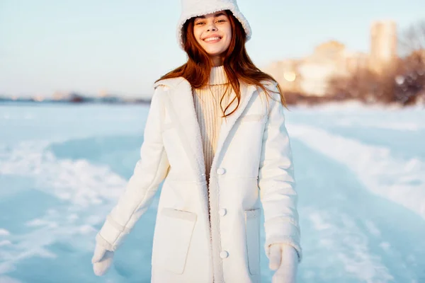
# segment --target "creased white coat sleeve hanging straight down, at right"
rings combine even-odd
[[[271,89],[278,91],[276,86]],[[278,93],[270,94],[274,99],[269,99],[270,108],[263,133],[259,168],[259,189],[266,232],[264,248],[268,255],[272,244],[288,244],[297,250],[298,260],[301,261],[297,192],[290,139],[280,96]]]

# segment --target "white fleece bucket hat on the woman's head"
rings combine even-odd
[[[203,16],[218,11],[232,11],[233,16],[242,23],[246,33],[246,40],[251,38],[251,27],[242,13],[239,11],[236,0],[181,0],[181,16],[177,25],[177,41],[183,49],[183,25],[189,18]]]

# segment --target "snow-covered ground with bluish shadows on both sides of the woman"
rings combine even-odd
[[[0,105],[0,283],[149,282],[157,202],[107,275],[90,261],[139,157],[147,110]],[[425,282],[425,110],[328,105],[286,117],[298,282]],[[261,270],[270,282],[265,254]]]

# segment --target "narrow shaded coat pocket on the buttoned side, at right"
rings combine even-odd
[[[260,216],[261,209],[245,210],[246,253],[249,273],[260,273]]]

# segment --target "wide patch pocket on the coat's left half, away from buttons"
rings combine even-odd
[[[186,265],[196,214],[169,207],[159,213],[154,239],[155,261],[165,270],[181,274]]]

